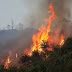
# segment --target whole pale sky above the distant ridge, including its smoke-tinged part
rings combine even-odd
[[[27,25],[30,23],[26,23],[28,16],[36,17],[38,15],[35,20],[39,22],[39,19],[45,15],[43,11],[48,9],[48,6],[45,6],[48,4],[46,4],[46,1],[48,0],[0,0],[0,28],[6,28],[7,25],[11,25],[11,20],[14,21],[14,26],[19,23]],[[66,3],[69,3],[72,19],[72,0],[66,0]]]

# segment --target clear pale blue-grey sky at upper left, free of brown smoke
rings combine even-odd
[[[28,12],[24,2],[25,0],[0,0],[0,28],[11,24],[11,19],[15,25],[23,22]]]

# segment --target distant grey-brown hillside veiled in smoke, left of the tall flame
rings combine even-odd
[[[0,31],[0,58],[5,57],[10,51],[22,53],[25,48],[29,48],[32,44],[32,35],[37,31],[34,28]]]

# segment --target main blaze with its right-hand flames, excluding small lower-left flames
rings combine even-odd
[[[32,37],[33,46],[31,48],[31,52],[29,52],[27,49],[25,50],[25,53],[30,56],[32,55],[33,51],[38,51],[39,53],[44,52],[43,49],[41,48],[41,44],[43,42],[48,42],[49,48],[47,50],[52,51],[51,45],[53,44],[54,41],[51,39],[49,32],[51,31],[51,29],[50,29],[51,23],[52,23],[53,19],[57,18],[57,16],[54,12],[52,3],[49,5],[49,8],[50,8],[50,10],[48,10],[47,13],[50,13],[51,15],[49,16],[49,18],[45,19],[45,22],[47,22],[47,24],[48,24],[47,27],[42,25],[39,28],[39,32],[37,34],[33,35],[33,37]],[[57,33],[57,32],[58,32],[58,30],[56,30],[55,33]],[[58,37],[58,35],[56,35],[56,36]],[[60,41],[60,39],[61,39],[61,41]],[[60,39],[57,41],[57,44],[60,43],[60,46],[61,46],[64,44],[64,36],[61,35]]]

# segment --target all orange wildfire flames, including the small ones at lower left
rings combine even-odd
[[[55,44],[55,46],[57,44],[60,46],[62,46],[64,44],[64,35],[58,36],[58,34],[57,34],[58,29],[55,31],[55,39],[58,38],[58,39],[56,39],[56,41],[54,41],[55,39],[53,40],[51,38],[51,36],[49,35],[49,33],[51,31],[51,29],[50,29],[51,23],[55,18],[57,18],[56,14],[54,12],[52,3],[49,5],[49,8],[50,8],[50,10],[48,10],[47,13],[50,13],[51,15],[49,16],[49,18],[45,19],[45,22],[48,25],[47,25],[47,27],[42,25],[38,29],[39,32],[33,35],[33,37],[32,37],[33,46],[31,48],[31,50],[28,50],[27,48],[24,50],[24,53],[26,55],[31,56],[32,52],[34,52],[34,51],[38,51],[39,54],[41,52],[45,53],[45,50],[53,51],[52,47],[54,44]],[[54,42],[56,42],[56,43],[54,43]],[[43,49],[42,45],[44,45],[46,49]],[[16,53],[15,57],[18,58],[17,53]],[[46,57],[48,57],[48,55],[46,55]],[[5,62],[4,68],[8,69],[10,63],[11,63],[11,60],[10,60],[10,55],[9,55]]]

